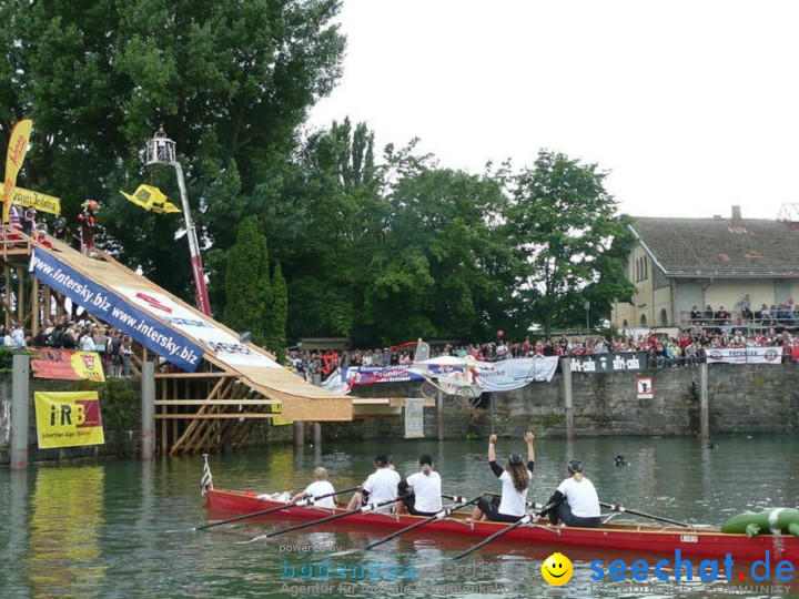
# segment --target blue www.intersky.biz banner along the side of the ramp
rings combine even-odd
[[[33,250],[30,272],[49,287],[175,366],[190,373],[200,366],[202,347],[144,311],[131,306],[48,252]]]

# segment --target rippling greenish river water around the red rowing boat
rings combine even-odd
[[[576,457],[585,463],[586,476],[596,485],[600,500],[676,520],[718,526],[745,509],[796,506],[799,440],[756,436],[721,438],[717,444],[708,449],[697,439],[577,439],[572,445],[542,439],[536,443],[528,499],[546,501],[562,480],[567,459]],[[499,456],[523,449],[522,439],[500,439],[497,446]],[[342,441],[300,451],[281,446],[212,456],[210,463],[219,488],[299,491],[318,465],[327,468],[336,487],[345,488],[362,483],[373,470],[372,458],[378,450],[390,453],[403,475],[415,471],[418,456],[429,453],[442,473],[444,493],[472,497],[482,490],[499,490],[486,464],[484,440]],[[619,454],[629,466],[615,466],[614,456]],[[291,597],[292,592],[299,597],[535,597],[558,590],[549,587],[540,572],[553,547],[497,541],[453,562],[449,558],[476,540],[428,538],[422,529],[365,554],[361,550],[364,545],[390,531],[348,530],[346,519],[335,527],[250,544],[241,541],[286,524],[241,522],[191,531],[209,521],[200,494],[201,475],[201,457],[41,464],[26,473],[0,469],[0,597],[245,598]],[[286,552],[301,546],[337,546],[341,552]],[[696,571],[694,582],[674,582],[671,591],[625,587],[607,577],[594,582],[589,578],[591,560],[605,559],[607,571],[615,557],[629,565],[647,556],[563,552],[574,562],[574,576],[559,590],[573,597],[700,597],[710,591],[729,592],[737,583],[716,583],[709,589],[696,581]],[[302,566],[321,568],[325,560],[351,568],[380,565],[384,572],[390,569],[407,578],[344,581],[351,587],[340,586],[340,580],[301,578]],[[748,571],[738,566],[736,572]],[[314,582],[331,587],[304,588]],[[400,592],[385,586],[397,582],[406,583]],[[748,596],[782,595],[776,586],[786,582],[772,572],[770,581],[759,585],[775,587],[754,589]],[[799,587],[787,592],[799,592]]]

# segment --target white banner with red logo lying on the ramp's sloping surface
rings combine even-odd
[[[134,290],[117,285],[113,290],[145,312],[216,352],[216,357],[230,366],[282,368],[280,364],[247,347],[226,331],[219,328],[213,322],[186,309],[162,293],[150,288]]]

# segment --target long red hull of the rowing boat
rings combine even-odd
[[[234,491],[211,489],[205,497],[205,506],[211,510],[252,514],[281,506],[281,502],[259,499],[252,491]],[[291,506],[273,511],[266,516],[253,517],[253,520],[316,520],[335,512],[346,511],[343,508],[323,509],[317,507]],[[375,512],[354,514],[336,520],[351,529],[384,528],[398,530],[418,522],[418,516],[396,516]],[[466,514],[453,514],[453,517],[425,525],[428,536],[466,535],[486,538],[509,525],[502,522],[474,522]],[[520,526],[503,537],[508,541],[527,544],[546,544],[548,546],[601,549],[615,551],[633,551],[674,556],[679,549],[681,557],[700,557],[725,559],[727,554],[734,560],[754,561],[765,559],[770,552],[771,564],[779,560],[799,562],[799,538],[792,536],[759,535],[748,538],[746,535],[724,534],[714,528],[675,528],[672,526],[649,526],[609,524],[603,528],[549,528]],[[601,557],[599,555],[598,557]]]

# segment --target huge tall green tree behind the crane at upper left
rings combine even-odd
[[[340,0],[4,2],[0,142],[34,120],[20,184],[63,199],[72,222],[102,202],[99,243],[191,297],[179,217],[128,203],[148,179],[178,197],[170,170],[144,174],[139,151],[160,122],[178,142],[212,282],[243,215],[280,186],[295,132],[341,74]],[[212,287],[215,303],[224,286]],[[220,306],[216,306],[218,308]]]

